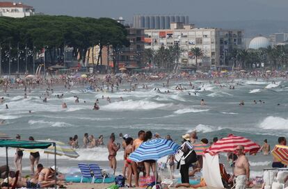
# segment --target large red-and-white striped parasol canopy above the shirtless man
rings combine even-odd
[[[217,142],[214,142],[211,147],[205,150],[205,153],[215,155],[220,152],[236,151],[236,148],[239,145],[244,147],[245,153],[249,152],[250,154],[255,154],[260,149],[260,146],[252,140],[230,134],[226,138],[222,138]]]

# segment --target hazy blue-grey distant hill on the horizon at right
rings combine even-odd
[[[191,20],[191,23],[198,27],[214,27],[227,29],[243,29],[244,38],[253,38],[256,35],[269,36],[273,33],[288,33],[288,20],[248,20],[248,21],[214,21],[197,22]]]

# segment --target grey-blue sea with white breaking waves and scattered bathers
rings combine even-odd
[[[108,151],[106,143],[109,135],[129,134],[136,138],[139,130],[159,133],[162,137],[171,135],[180,144],[181,136],[197,131],[198,138],[223,138],[230,133],[241,135],[263,144],[267,139],[271,149],[278,137],[288,135],[288,81],[287,79],[235,79],[220,80],[220,83],[193,81],[194,89],[187,80],[166,80],[139,82],[135,91],[129,92],[130,83],[120,85],[119,90],[109,92],[89,92],[88,85],[73,85],[70,90],[62,86],[52,86],[54,93],[43,103],[40,96],[45,87],[27,90],[24,99],[23,89],[0,91],[5,101],[0,105],[0,119],[6,122],[0,125],[0,132],[11,137],[20,134],[22,139],[33,136],[35,140],[57,140],[68,142],[69,137],[79,135],[82,146],[83,134],[93,134],[96,138],[104,135],[102,147],[77,149],[79,157],[57,156],[59,170],[71,172],[77,163],[99,163],[108,169]],[[143,89],[143,84],[148,89]],[[175,90],[177,85],[186,90]],[[132,83],[133,85],[133,83]],[[230,89],[230,85],[234,89]],[[127,89],[125,92],[124,89]],[[157,90],[155,90],[157,89]],[[158,90],[159,89],[159,90]],[[169,93],[167,91],[169,90]],[[58,99],[57,94],[64,94]],[[75,103],[75,96],[79,103]],[[102,99],[104,97],[104,99]],[[111,103],[106,100],[110,97]],[[120,99],[122,97],[123,100]],[[99,110],[93,110],[99,99]],[[204,99],[206,106],[200,106]],[[239,106],[243,100],[244,106]],[[257,102],[255,104],[254,100]],[[84,101],[86,101],[84,103]],[[262,101],[262,102],[260,102]],[[61,104],[65,102],[67,109]],[[9,109],[6,109],[8,104]],[[29,113],[31,110],[31,113]],[[116,138],[117,142],[122,142]],[[15,149],[8,150],[9,164],[13,168]],[[54,165],[54,156],[43,154],[40,163]],[[226,154],[220,159],[226,162]],[[6,164],[6,151],[0,149],[0,165]],[[122,172],[123,151],[117,155],[118,173]],[[272,156],[248,156],[252,176],[261,176],[265,167],[271,167]],[[29,172],[29,152],[24,151],[23,169]],[[231,171],[231,170],[230,170]],[[177,172],[177,171],[176,171]]]

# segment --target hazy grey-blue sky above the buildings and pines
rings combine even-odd
[[[2,1],[2,0],[0,0]],[[6,0],[8,1],[8,0]],[[288,0],[22,0],[49,15],[124,17],[135,14],[189,15],[191,22],[285,20]]]

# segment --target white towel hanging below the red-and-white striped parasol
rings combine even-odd
[[[203,156],[202,174],[207,188],[224,188],[221,180],[218,155],[211,156],[210,154],[205,154]]]

